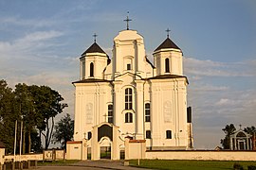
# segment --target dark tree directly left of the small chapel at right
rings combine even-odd
[[[234,133],[236,128],[233,124],[227,125],[225,128],[222,128],[226,136],[224,139],[221,139],[221,144],[224,149],[230,149],[230,135]]]

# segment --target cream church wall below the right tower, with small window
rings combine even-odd
[[[186,147],[188,135],[185,79],[151,81],[153,145]],[[166,139],[166,130],[172,130],[172,139]]]

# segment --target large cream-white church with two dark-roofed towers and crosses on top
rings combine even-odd
[[[137,30],[121,30],[110,58],[95,42],[80,58],[75,87],[74,144],[101,159],[101,146],[119,160],[126,139],[144,141],[147,150],[191,149],[192,112],[187,108],[187,76],[181,49],[169,38],[155,44],[147,59]],[[82,142],[83,141],[83,142]]]

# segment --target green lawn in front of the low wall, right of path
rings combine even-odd
[[[151,168],[151,169],[189,169],[189,170],[217,170],[233,169],[234,163],[241,164],[244,169],[248,165],[256,166],[256,161],[171,161],[171,160],[137,160],[129,161],[131,166]]]

